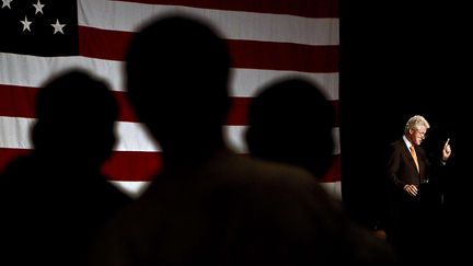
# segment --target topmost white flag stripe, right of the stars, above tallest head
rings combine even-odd
[[[79,25],[135,32],[159,14],[183,12],[207,19],[229,39],[307,45],[338,45],[338,19],[311,19],[286,14],[142,4],[104,0],[79,0]],[[117,19],[119,18],[119,19]],[[311,32],[311,34],[307,34]]]

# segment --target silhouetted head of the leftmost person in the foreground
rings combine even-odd
[[[108,86],[80,70],[54,77],[36,95],[37,153],[99,167],[115,144],[118,106]]]

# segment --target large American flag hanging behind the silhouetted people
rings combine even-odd
[[[338,0],[1,0],[0,171],[33,147],[34,97],[51,76],[79,67],[105,79],[120,103],[119,142],[104,167],[138,195],[159,171],[160,148],[124,96],[124,53],[141,23],[185,12],[212,23],[228,41],[234,68],[228,141],[245,153],[246,109],[265,83],[298,74],[323,86],[338,111]],[[70,93],[73,93],[71,91]],[[86,103],[84,103],[86,108]],[[323,183],[341,195],[338,123],[335,163]],[[71,146],[71,143],[65,143]],[[157,160],[158,159],[158,160]]]

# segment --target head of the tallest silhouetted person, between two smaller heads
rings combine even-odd
[[[134,36],[126,61],[130,103],[164,152],[220,142],[230,56],[215,30],[189,18],[160,18]]]

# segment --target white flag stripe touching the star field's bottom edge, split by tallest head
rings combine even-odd
[[[84,57],[36,57],[0,53],[0,83],[21,86],[39,86],[65,69],[77,67],[106,80],[112,90],[124,91],[124,63]],[[338,100],[338,73],[308,73],[298,71],[232,69],[232,96],[249,97],[276,78],[301,76],[318,82],[328,100]]]

